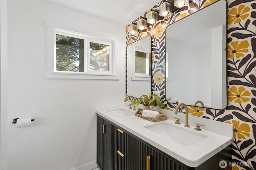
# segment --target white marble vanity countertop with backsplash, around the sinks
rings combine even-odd
[[[229,123],[189,115],[190,127],[184,127],[185,114],[183,113],[174,115],[173,111],[161,109],[161,112],[164,113],[168,119],[154,123],[137,117],[134,114],[126,116],[118,112],[118,110],[122,109],[133,113],[136,112],[129,110],[127,107],[100,109],[96,112],[124,130],[129,131],[133,135],[190,167],[199,166],[233,142],[233,125]],[[181,124],[175,124],[176,119],[173,119],[173,117],[180,118]],[[145,128],[145,126],[156,125],[157,123],[168,123],[178,128],[184,128],[186,131],[206,136],[206,138],[190,146],[185,146]],[[201,127],[202,131],[196,131],[194,130],[195,123],[202,123],[205,127]]]

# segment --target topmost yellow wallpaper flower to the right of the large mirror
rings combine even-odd
[[[250,8],[245,5],[240,5],[238,8],[232,8],[228,14],[228,24],[240,23],[242,20],[245,20],[249,14],[245,14],[249,12]]]

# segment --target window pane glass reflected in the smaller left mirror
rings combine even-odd
[[[147,53],[135,51],[135,73],[147,74]]]

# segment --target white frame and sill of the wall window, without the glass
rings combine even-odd
[[[84,39],[84,72],[68,72],[56,70],[56,34]],[[108,79],[119,80],[115,71],[115,41],[102,39],[90,35],[48,27],[48,73],[47,78],[68,78],[68,79]],[[50,40],[49,40],[50,39]],[[109,71],[90,70],[90,42],[109,45]]]

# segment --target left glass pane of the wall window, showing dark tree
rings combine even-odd
[[[84,39],[56,34],[56,70],[84,72]]]

